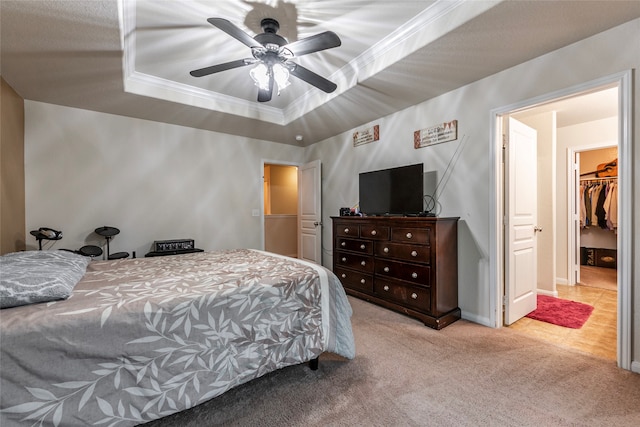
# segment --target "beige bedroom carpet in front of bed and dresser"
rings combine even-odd
[[[632,426],[640,375],[507,328],[435,331],[350,298],[357,356],[289,367],[163,426]]]

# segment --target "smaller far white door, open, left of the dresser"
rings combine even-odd
[[[298,258],[322,264],[320,160],[298,168]]]

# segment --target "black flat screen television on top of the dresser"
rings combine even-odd
[[[365,215],[417,215],[423,210],[423,164],[359,175],[360,212]]]

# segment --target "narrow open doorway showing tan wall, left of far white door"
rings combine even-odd
[[[264,249],[298,256],[298,166],[264,164]]]

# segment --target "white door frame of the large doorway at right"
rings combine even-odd
[[[504,179],[502,164],[502,118],[509,113],[546,104],[561,98],[573,97],[604,86],[618,87],[618,194],[619,230],[632,230],[632,70],[561,89],[556,92],[499,107],[490,112],[489,154],[493,173],[489,178],[489,304],[490,322],[496,328],[503,326],[504,298]],[[632,236],[619,233],[618,239],[618,322],[617,364],[631,370],[631,255]]]

